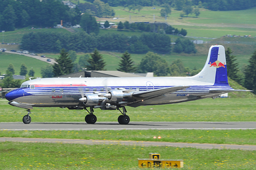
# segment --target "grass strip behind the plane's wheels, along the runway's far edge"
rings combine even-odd
[[[0,119],[4,122],[21,122],[27,114],[25,109],[7,104],[5,99],[0,100]],[[97,121],[117,122],[120,115],[118,110],[95,109]],[[192,102],[177,103],[161,106],[127,107],[131,121],[256,121],[255,98],[217,98],[203,99]],[[83,122],[85,110],[68,110],[56,107],[35,107],[31,110],[32,122]]]

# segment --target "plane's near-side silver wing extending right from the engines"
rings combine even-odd
[[[143,98],[143,99],[155,98],[166,93],[173,93],[178,90],[186,89],[189,87],[190,86],[174,86],[174,87],[167,87],[167,88],[154,89],[154,90],[148,90],[148,91],[134,92],[132,93],[132,96],[137,98]]]

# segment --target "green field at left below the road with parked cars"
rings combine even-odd
[[[46,67],[49,65],[48,63],[44,61],[40,61],[39,59],[34,59],[31,57],[27,57],[24,55],[18,55],[18,54],[8,54],[4,53],[0,55],[0,72],[2,74],[5,73],[7,70],[9,64],[13,64],[15,69],[15,74],[19,75],[20,67],[22,63],[26,64],[27,71],[31,70],[31,68],[35,71],[35,77],[41,77],[41,68]]]

